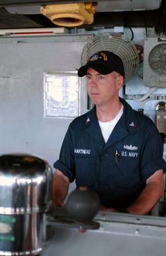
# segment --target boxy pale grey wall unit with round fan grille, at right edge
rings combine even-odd
[[[143,81],[145,86],[166,86],[166,38],[145,39]]]

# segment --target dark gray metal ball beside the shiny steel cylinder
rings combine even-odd
[[[100,201],[97,193],[79,187],[69,194],[65,207],[75,221],[90,223],[99,211]]]

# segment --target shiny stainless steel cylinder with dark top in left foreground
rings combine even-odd
[[[42,221],[51,202],[52,170],[29,155],[0,156],[0,255],[42,251]]]

